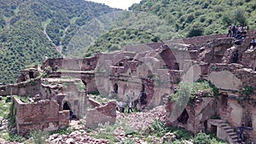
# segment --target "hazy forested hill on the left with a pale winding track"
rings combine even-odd
[[[84,0],[1,0],[0,83],[14,83],[25,66],[60,57],[55,48],[66,45],[79,26],[114,11],[119,9]]]

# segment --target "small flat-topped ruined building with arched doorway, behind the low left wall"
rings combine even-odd
[[[45,78],[44,81],[54,82],[52,78]],[[86,113],[87,96],[85,91],[78,89],[79,79],[55,79],[56,84],[42,84],[40,96],[43,100],[57,101],[60,111],[67,102],[68,107],[75,112],[78,118]],[[58,84],[59,83],[59,84]]]

